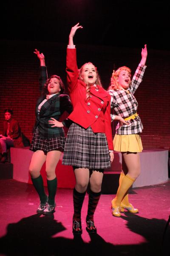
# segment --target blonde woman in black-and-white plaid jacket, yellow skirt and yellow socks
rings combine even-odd
[[[146,68],[146,45],[142,49],[141,55],[142,59],[133,79],[130,79],[131,70],[128,67],[120,67],[115,72],[113,71],[111,86],[108,90],[111,95],[111,108],[116,113],[116,115],[111,114],[112,121],[123,118],[127,122],[126,125],[119,122],[113,140],[114,150],[122,152],[122,172],[119,178],[119,188],[116,197],[111,202],[112,214],[116,217],[120,217],[120,212],[123,212],[124,209],[132,213],[139,212],[129,203],[128,189],[140,174],[139,152],[143,149],[140,133],[143,125],[137,113],[138,103],[133,94],[142,82]]]

